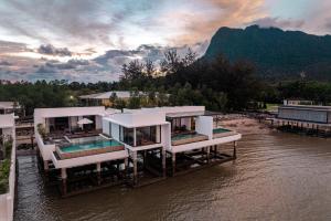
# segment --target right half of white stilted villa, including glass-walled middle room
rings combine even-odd
[[[188,169],[185,166],[190,164],[206,165],[211,161],[223,161],[222,155],[217,152],[217,146],[234,143],[235,147],[242,135],[215,127],[214,116],[218,114],[205,112],[204,106],[125,109],[122,114],[104,117],[103,129],[128,149],[136,185],[138,155],[142,155],[140,161],[146,166],[146,156],[153,152],[154,159],[158,159],[156,161],[159,161],[159,168],[162,168],[163,177],[167,170],[174,176],[178,171]],[[171,162],[171,167],[169,165],[166,167],[167,161]]]

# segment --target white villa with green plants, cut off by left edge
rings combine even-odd
[[[4,144],[11,143],[11,152],[7,152]],[[0,165],[9,164],[10,172],[8,179],[0,179],[0,220],[13,220],[14,188],[15,188],[15,126],[14,115],[0,115]],[[3,185],[8,188],[3,191]]]

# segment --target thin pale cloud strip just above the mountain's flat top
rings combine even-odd
[[[280,18],[270,18],[265,17],[248,23],[248,25],[257,24],[261,28],[277,27],[280,29],[300,29],[303,27],[303,20],[293,20],[293,19],[280,19]]]

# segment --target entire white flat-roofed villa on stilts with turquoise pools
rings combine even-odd
[[[82,177],[88,187],[137,187],[235,159],[242,135],[218,127],[218,115],[204,106],[43,108],[34,112],[35,138],[63,194],[77,192]],[[221,152],[229,143],[233,152]]]

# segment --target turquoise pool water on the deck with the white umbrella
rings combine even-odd
[[[114,139],[109,140],[94,140],[89,143],[82,143],[82,144],[72,144],[66,147],[61,147],[61,150],[63,152],[75,152],[75,151],[84,151],[89,149],[100,149],[106,147],[116,147],[121,146],[119,141],[116,141]]]

